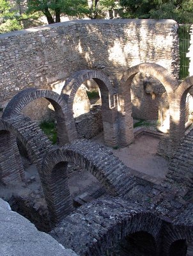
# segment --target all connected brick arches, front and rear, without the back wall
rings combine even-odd
[[[89,76],[101,86],[102,115],[103,122],[106,122],[104,132],[108,132],[108,127],[110,131],[108,136],[104,136],[105,142],[110,145],[116,145],[117,141],[120,141],[121,145],[132,142],[134,140],[133,127],[130,125],[132,107],[130,90],[127,89],[130,88],[131,81],[138,72],[149,72],[164,84],[171,100],[169,102],[171,131],[169,138],[164,138],[162,143],[173,141],[176,143],[175,148],[180,145],[171,160],[166,180],[160,185],[135,177],[132,170],[114,157],[110,150],[87,140],[76,140],[77,131],[72,130],[75,122],[72,115],[73,100],[70,99],[73,99],[82,81]],[[25,179],[15,140],[18,138],[26,147],[29,158],[38,168],[50,221],[53,224],[58,223],[50,234],[59,243],[73,249],[78,255],[103,255],[113,244],[123,239],[130,239],[131,235],[135,239],[140,239],[139,237],[142,236],[140,232],[145,232],[154,241],[147,249],[153,250],[154,255],[185,256],[187,244],[193,238],[192,206],[187,204],[184,197],[191,194],[192,158],[189,158],[190,161],[183,159],[189,156],[187,152],[190,151],[190,156],[192,154],[192,131],[181,144],[179,143],[185,132],[183,106],[191,86],[192,77],[179,84],[166,68],[143,63],[125,72],[120,81],[121,89],[118,90],[112,88],[102,72],[82,70],[68,80],[61,95],[41,89],[26,89],[18,93],[9,102],[1,119],[1,182],[10,184]],[[69,95],[65,94],[67,89]],[[57,111],[60,111],[61,119],[58,118],[58,127],[62,125],[65,127],[68,140],[72,143],[54,148],[38,125],[30,118],[21,115],[21,109],[38,97],[45,97],[52,102],[56,108],[56,116]],[[67,127],[71,127],[69,133]],[[111,132],[111,129],[116,133]],[[58,132],[61,132],[59,138],[62,138],[62,130],[58,129]],[[8,158],[10,155],[12,158]],[[73,205],[66,173],[68,163],[78,164],[91,172],[112,197],[96,200],[70,214]],[[183,164],[184,168],[179,169],[179,165]],[[68,214],[70,215],[67,216]],[[75,231],[77,225],[82,234],[81,239],[79,232]],[[180,243],[178,244],[180,251],[176,250],[175,243]]]

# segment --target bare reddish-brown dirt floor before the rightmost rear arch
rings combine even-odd
[[[98,134],[92,141],[104,145],[103,134]],[[168,172],[168,161],[156,155],[159,141],[157,138],[143,135],[128,147],[112,148],[112,152],[128,167],[152,177],[164,179]]]

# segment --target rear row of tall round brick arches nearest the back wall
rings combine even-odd
[[[192,84],[193,77],[185,79],[181,84],[166,68],[155,63],[142,63],[130,68],[121,78],[119,86],[114,86],[105,74],[96,70],[75,72],[63,87],[61,95],[50,90],[29,88],[23,90],[8,103],[3,118],[19,115],[29,102],[45,98],[54,106],[57,120],[59,145],[77,139],[77,131],[73,120],[73,100],[82,83],[93,79],[100,88],[102,98],[102,120],[106,145],[129,145],[134,140],[132,103],[130,88],[137,73],[148,73],[157,78],[164,86],[169,102],[169,138],[176,143],[185,134],[185,100]]]

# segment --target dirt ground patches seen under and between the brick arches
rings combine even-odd
[[[103,134],[92,139],[104,145]],[[131,170],[133,175],[159,184],[167,173],[166,159],[157,156],[159,140],[150,136],[141,136],[124,148],[113,149],[113,154],[120,158]],[[43,195],[40,177],[35,164],[30,164],[22,157],[26,173],[26,182],[19,182],[10,186],[0,184],[0,197],[9,202],[13,211],[19,212],[36,227],[49,231],[49,212]],[[68,187],[73,199],[74,207],[79,207],[95,198],[107,195],[107,191],[100,182],[87,170],[80,166],[68,164]]]

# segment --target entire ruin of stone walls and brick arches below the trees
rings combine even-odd
[[[178,24],[69,21],[0,35],[0,44],[0,193],[13,210],[1,200],[0,255],[193,255],[193,77],[178,77]],[[85,88],[99,89],[100,106],[90,109]],[[38,125],[50,116],[57,145]],[[136,133],[134,118],[158,120],[157,131]],[[89,140],[101,131],[105,145]],[[112,152],[144,133],[169,161],[161,182]],[[41,191],[32,193],[24,155]],[[72,198],[70,166],[94,177],[97,193]]]

